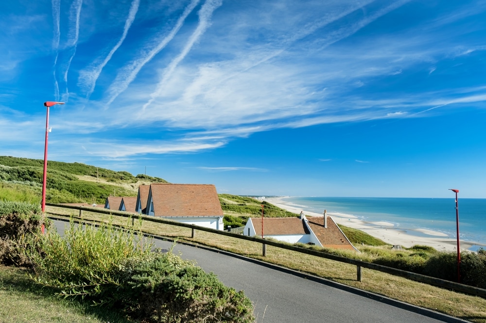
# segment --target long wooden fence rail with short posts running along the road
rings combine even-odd
[[[46,203],[48,206],[52,207],[58,207],[58,208],[65,208],[65,209],[73,209],[73,210],[79,210],[80,216],[82,215],[83,211],[89,211],[89,212],[95,212],[95,213],[101,213],[101,214],[109,214],[109,215],[117,215],[117,216],[122,216],[122,217],[132,217],[132,218],[138,218],[141,219],[142,221],[150,221],[150,222],[156,222],[156,223],[161,223],[161,224],[166,224],[170,226],[183,226],[187,228],[192,229],[192,238],[195,235],[195,230],[200,230],[200,231],[206,231],[214,234],[219,234],[235,239],[242,239],[242,240],[247,240],[247,241],[253,241],[253,242],[259,242],[262,244],[262,254],[265,256],[266,254],[266,245],[271,245],[274,247],[282,248],[282,249],[287,249],[287,250],[292,250],[295,252],[300,252],[302,254],[306,255],[311,255],[315,257],[320,257],[320,258],[326,258],[330,260],[335,260],[339,262],[344,262],[348,263],[351,265],[355,265],[357,268],[357,280],[361,281],[362,280],[362,270],[361,268],[368,268],[372,270],[377,270],[383,273],[387,273],[390,275],[396,275],[396,276],[401,276],[405,277],[411,280],[419,281],[422,283],[434,285],[437,287],[442,287],[446,288],[449,290],[453,291],[460,291],[464,292],[470,295],[476,295],[480,296],[483,298],[486,298],[486,290],[477,288],[477,287],[472,287],[464,284],[459,284],[455,283],[452,281],[444,280],[444,279],[439,279],[439,278],[434,278],[426,275],[420,275],[412,272],[407,272],[404,270],[396,269],[396,268],[391,268],[391,267],[386,267],[378,264],[374,264],[371,262],[366,262],[363,260],[358,260],[358,259],[351,259],[351,258],[346,258],[342,256],[337,256],[337,255],[332,255],[323,251],[317,251],[317,250],[311,250],[311,249],[306,249],[302,247],[297,247],[295,245],[290,245],[290,244],[285,244],[281,242],[275,242],[275,241],[270,241],[270,240],[265,240],[261,239],[258,237],[249,237],[249,236],[243,236],[240,234],[232,233],[232,232],[227,232],[227,231],[222,231],[222,230],[216,230],[216,229],[211,229],[203,226],[196,226],[196,225],[190,225],[186,223],[180,223],[176,222],[173,220],[167,220],[167,219],[160,219],[156,218],[153,216],[146,216],[146,215],[141,215],[141,214],[133,214],[129,212],[123,212],[123,211],[115,211],[115,210],[106,210],[106,209],[100,209],[100,208],[87,208],[87,207],[78,207],[78,206],[70,206],[70,205],[62,205],[62,204],[52,204],[52,203]]]

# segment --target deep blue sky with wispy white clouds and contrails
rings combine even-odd
[[[0,154],[219,193],[486,198],[486,1],[0,4]]]

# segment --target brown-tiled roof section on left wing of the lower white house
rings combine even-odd
[[[257,236],[261,236],[261,218],[250,219]],[[286,236],[309,234],[303,220],[297,217],[292,218],[264,218],[263,234],[265,236]]]

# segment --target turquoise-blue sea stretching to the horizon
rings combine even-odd
[[[414,229],[428,229],[457,239],[455,196],[452,198],[392,197],[284,197],[283,201],[316,213],[344,213],[365,222],[386,221],[416,236],[431,237]],[[459,239],[469,248],[486,249],[486,199],[459,198]]]

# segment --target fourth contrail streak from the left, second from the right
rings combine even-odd
[[[130,65],[125,66],[117,75],[115,81],[110,85],[108,89],[109,94],[111,95],[110,99],[108,100],[107,105],[110,105],[123,91],[128,88],[133,80],[137,77],[140,69],[142,69],[143,65],[147,64],[152,60],[152,58],[163,48],[167,46],[167,44],[174,38],[175,34],[179,31],[179,29],[184,24],[187,16],[194,10],[196,5],[199,3],[199,0],[191,0],[191,3],[184,9],[182,16],[179,17],[177,23],[175,24],[174,28],[171,32],[158,44],[158,46],[152,49],[146,56],[133,61]]]

